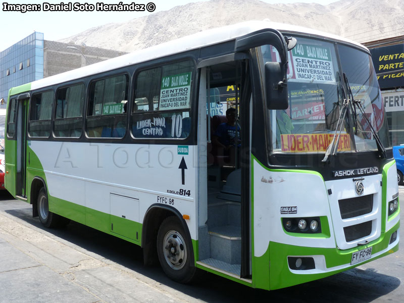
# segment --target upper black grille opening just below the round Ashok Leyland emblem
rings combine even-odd
[[[342,219],[369,214],[373,209],[373,194],[338,200]]]

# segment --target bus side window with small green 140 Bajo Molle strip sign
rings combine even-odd
[[[123,138],[126,134],[129,77],[119,75],[90,84],[86,131],[89,137]]]

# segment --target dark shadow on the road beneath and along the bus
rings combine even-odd
[[[90,254],[111,260],[150,279],[206,302],[371,302],[400,286],[398,278],[373,269],[351,269],[320,280],[266,291],[253,289],[207,272],[198,272],[190,285],[176,283],[164,275],[160,266],[144,266],[140,246],[100,232],[77,222],[61,229],[46,229],[38,218],[32,218],[31,208],[7,210],[8,214],[80,246]],[[377,261],[376,261],[377,262]],[[207,291],[209,290],[209,291]],[[387,298],[386,298],[387,300]],[[394,301],[394,299],[392,300]]]

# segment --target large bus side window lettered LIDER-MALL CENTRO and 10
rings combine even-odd
[[[132,110],[135,138],[187,138],[194,65],[167,64],[138,73]]]

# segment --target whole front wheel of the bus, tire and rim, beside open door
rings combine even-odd
[[[179,283],[192,280],[196,271],[193,264],[190,264],[193,259],[192,243],[176,217],[168,217],[160,225],[157,254],[163,271],[170,279]]]

